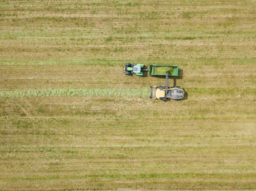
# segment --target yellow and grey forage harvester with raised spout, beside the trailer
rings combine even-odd
[[[181,100],[184,98],[185,91],[180,86],[168,87],[168,72],[165,74],[165,86],[151,86],[151,99],[167,101],[170,99]]]

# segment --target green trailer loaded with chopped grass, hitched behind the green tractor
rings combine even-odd
[[[169,77],[178,76],[178,66],[169,66],[169,65],[149,65],[148,73],[151,76],[165,76],[168,74]]]

